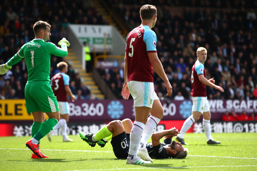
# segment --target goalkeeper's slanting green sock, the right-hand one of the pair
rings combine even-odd
[[[45,122],[42,124],[41,128],[39,131],[34,135],[33,138],[36,140],[40,140],[43,138],[45,135],[47,135],[51,130],[53,130],[53,127],[58,123],[57,119],[55,118],[49,118],[45,120]]]

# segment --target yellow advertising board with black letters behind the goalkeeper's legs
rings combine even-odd
[[[33,120],[33,116],[27,113],[25,99],[7,99],[0,100],[0,120]]]

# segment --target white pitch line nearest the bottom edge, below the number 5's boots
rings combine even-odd
[[[202,168],[202,167],[257,167],[257,165],[240,166],[182,166],[182,167],[141,167],[141,168],[113,168],[113,169],[91,169],[91,170],[68,170],[68,171],[94,171],[94,170],[134,170],[134,169],[175,169],[175,168]]]

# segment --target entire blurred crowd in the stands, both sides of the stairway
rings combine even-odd
[[[91,1],[3,1],[0,5],[0,63],[11,58],[34,38],[32,26],[38,20],[52,25],[50,42],[66,37],[68,24],[106,24]],[[214,77],[224,93],[207,86],[208,99],[257,99],[256,9],[257,1],[121,1],[107,0],[128,31],[141,24],[139,8],[150,3],[157,6],[157,53],[173,87],[169,99],[190,99],[191,67],[196,49],[207,49],[207,78]],[[136,5],[135,5],[136,4]],[[185,8],[182,8],[186,6]],[[175,10],[175,8],[178,10]],[[51,10],[51,9],[55,10]],[[124,47],[125,48],[125,47]],[[56,64],[65,58],[52,56],[50,78],[58,72]],[[106,70],[99,68],[102,78],[117,98],[122,98],[123,64]],[[70,87],[78,98],[89,99],[89,90],[69,66]],[[24,98],[27,71],[24,59],[0,76],[0,98]],[[166,87],[154,73],[155,92],[166,99]],[[84,90],[82,87],[84,87]],[[78,91],[78,90],[81,90]],[[81,94],[81,95],[80,95]]]

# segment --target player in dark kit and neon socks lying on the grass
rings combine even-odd
[[[130,132],[133,123],[130,119],[114,120],[108,125],[102,127],[95,135],[85,134],[80,132],[80,137],[86,141],[91,147],[96,143],[104,147],[108,140],[111,140],[114,155],[117,158],[126,159],[130,146]],[[172,141],[171,138],[177,136],[180,132],[178,129],[171,128],[162,130],[152,135],[152,142],[146,144],[146,149],[151,158],[166,159],[166,158],[185,158],[188,154],[188,149],[183,147],[181,143]],[[164,143],[160,143],[160,139],[164,137]],[[140,156],[144,158],[144,156]],[[143,162],[135,163],[143,164]]]

